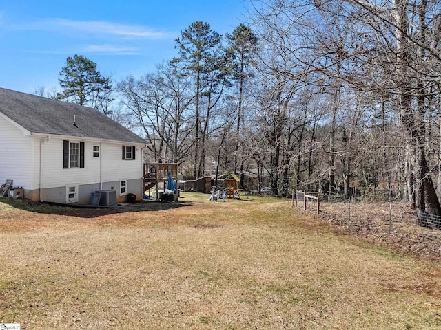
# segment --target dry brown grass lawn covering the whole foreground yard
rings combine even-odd
[[[83,210],[0,199],[22,329],[440,329],[441,267],[276,199]],[[3,202],[3,203],[2,203]]]

